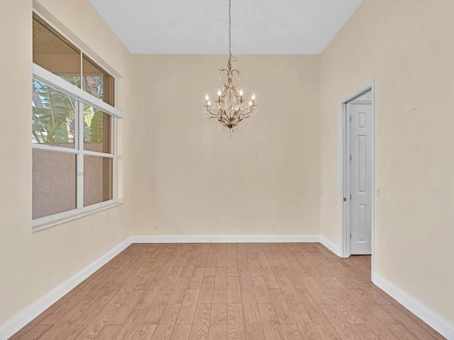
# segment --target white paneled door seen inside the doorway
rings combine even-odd
[[[350,254],[371,254],[372,105],[347,104],[350,114]]]

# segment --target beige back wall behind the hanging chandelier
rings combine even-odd
[[[232,139],[202,115],[226,63],[133,56],[133,233],[318,235],[319,56],[239,55],[240,84],[259,111]]]

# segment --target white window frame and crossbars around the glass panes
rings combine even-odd
[[[39,14],[38,14],[39,15]],[[70,41],[68,39],[68,41]],[[72,43],[72,42],[71,42]],[[77,47],[79,48],[79,47]],[[84,50],[80,49],[81,56],[82,53],[87,55]],[[82,60],[81,60],[82,61]],[[82,76],[82,74],[81,74]],[[112,77],[112,76],[111,76]],[[62,223],[68,222],[70,220],[77,219],[86,215],[91,215],[95,212],[101,210],[106,210],[114,206],[120,205],[123,203],[121,198],[122,188],[121,188],[121,162],[119,161],[119,155],[121,154],[121,119],[123,118],[123,113],[118,108],[101,101],[101,99],[92,96],[88,92],[78,88],[65,81],[64,79],[58,77],[56,74],[49,72],[47,69],[40,67],[38,64],[33,63],[33,79],[40,81],[47,86],[50,86],[58,91],[61,91],[68,96],[71,96],[77,101],[77,122],[76,122],[76,137],[77,145],[74,149],[67,147],[55,147],[51,145],[32,143],[33,149],[41,149],[52,152],[65,152],[70,154],[77,155],[77,208],[73,210],[67,210],[65,212],[60,212],[54,215],[49,215],[45,217],[40,217],[35,220],[32,220],[32,229],[33,232],[39,230],[47,229],[49,227],[54,227],[55,225],[60,225]],[[115,78],[114,78],[115,79]],[[84,124],[84,115],[83,115],[83,105],[81,103],[87,103],[94,108],[98,108],[111,115],[112,117],[112,131],[110,134],[111,139],[111,153],[104,152],[93,152],[89,150],[84,150],[84,139],[80,138],[80,135],[83,135],[79,132],[79,127]],[[106,200],[101,203],[96,203],[84,207],[84,156],[95,156],[95,157],[107,157],[112,159],[112,199]]]

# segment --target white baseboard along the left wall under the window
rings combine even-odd
[[[120,254],[121,251],[126,249],[131,243],[131,237],[128,237],[128,239],[124,240],[113,249],[107,251],[106,254],[99,257],[99,259],[96,259],[96,261],[90,263],[87,267],[82,269],[82,271],[79,271],[79,273],[75,274],[64,283],[59,285],[57,288],[51,290],[48,294],[41,297],[38,301],[34,302],[33,305],[28,306],[25,310],[16,315],[16,317],[13,317],[13,319],[11,319],[9,322],[1,325],[0,339],[8,339],[19,329],[28,324],[28,322],[31,322],[31,320],[35,319],[35,317],[47,310],[55,302],[60,300],[61,297],[69,293],[70,290],[79,285],[79,283],[88,278],[99,268],[104,266],[104,264],[109,262],[111,259],[114,259],[116,255]]]

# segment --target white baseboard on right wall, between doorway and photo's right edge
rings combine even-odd
[[[436,312],[433,312],[433,310],[423,305],[414,297],[406,294],[404,290],[397,288],[377,273],[375,273],[372,281],[377,287],[380,287],[385,293],[393,297],[394,300],[419,317],[419,319],[423,320],[423,322],[426,322],[426,324],[438,331],[446,339],[454,339],[454,324],[451,324],[448,320],[436,314]]]

